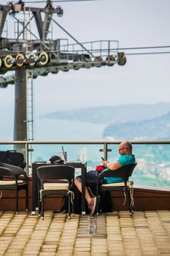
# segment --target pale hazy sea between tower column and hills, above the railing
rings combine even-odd
[[[35,122],[34,140],[104,140],[105,127],[106,124],[38,118]]]

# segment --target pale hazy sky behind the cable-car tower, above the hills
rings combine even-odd
[[[118,40],[120,48],[170,45],[169,0],[53,3],[57,5],[63,8],[63,17],[53,18],[80,42]],[[53,24],[53,39],[57,38],[69,36]],[[127,56],[125,66],[60,71],[34,80],[35,115],[98,105],[169,102],[169,83],[170,53]],[[1,109],[13,111],[14,90],[12,85],[0,89]]]

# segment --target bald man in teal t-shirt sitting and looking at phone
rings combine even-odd
[[[132,145],[128,141],[123,141],[119,145],[119,154],[120,157],[117,159],[116,162],[109,163],[109,161],[103,161],[103,165],[105,167],[104,170],[117,170],[124,165],[131,165],[136,162],[134,154],[132,154]],[[103,170],[103,171],[104,171]],[[90,214],[93,214],[96,208],[96,197],[90,195],[88,191],[88,187],[94,186],[97,184],[98,172],[95,170],[90,170],[88,173],[85,174],[85,199],[88,202],[88,207],[90,209]],[[123,179],[121,177],[105,177],[104,183],[114,183],[114,182],[122,182]],[[74,179],[74,184],[76,185],[77,189],[82,192],[82,182],[81,176],[77,176]]]

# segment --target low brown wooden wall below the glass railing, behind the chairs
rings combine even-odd
[[[0,211],[15,211],[15,192],[1,190]],[[128,203],[123,192],[112,191],[112,211],[128,210]],[[25,192],[20,190],[19,211],[25,211]],[[28,210],[32,211],[32,179],[28,178]],[[55,195],[45,198],[46,211],[60,211],[63,204],[63,196]],[[170,210],[170,189],[154,187],[134,186],[134,211]]]

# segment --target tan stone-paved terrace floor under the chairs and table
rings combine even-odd
[[[0,212],[0,233],[0,255],[170,256],[170,211],[135,211],[134,217],[115,211],[70,220],[52,211],[45,211],[44,220]]]

